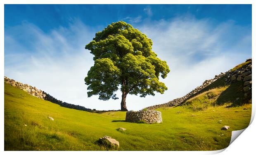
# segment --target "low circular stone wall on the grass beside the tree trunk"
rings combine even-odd
[[[161,123],[162,113],[156,110],[147,111],[128,111],[126,113],[127,122],[146,122],[146,123]]]

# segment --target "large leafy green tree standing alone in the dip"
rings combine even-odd
[[[159,76],[170,72],[166,61],[152,51],[153,42],[139,30],[124,21],[112,23],[85,46],[94,55],[94,66],[85,77],[88,97],[99,95],[100,100],[118,99],[121,89],[121,111],[126,108],[127,94],[140,97],[161,94],[167,90]]]

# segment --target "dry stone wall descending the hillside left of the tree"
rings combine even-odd
[[[84,106],[74,105],[74,104],[70,104],[70,103],[60,101],[60,100],[55,99],[54,97],[52,97],[50,94],[47,94],[46,92],[44,92],[40,89],[37,89],[36,87],[32,87],[30,85],[23,84],[21,82],[17,82],[13,79],[9,79],[6,76],[5,76],[5,83],[10,84],[13,87],[17,87],[19,89],[22,89],[25,92],[27,92],[28,94],[36,96],[39,99],[44,99],[46,101],[50,101],[52,103],[59,104],[60,106],[63,106],[63,107],[66,107],[66,108],[72,108],[72,109],[84,110],[84,111],[90,111],[91,110],[90,108],[85,108]]]

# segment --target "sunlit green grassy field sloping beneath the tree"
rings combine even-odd
[[[244,129],[251,119],[251,104],[217,104],[227,89],[209,90],[183,106],[157,109],[163,123],[137,124],[124,122],[126,112],[64,108],[5,84],[5,150],[106,150],[95,143],[105,135],[119,141],[118,150],[223,149],[232,130]],[[230,129],[220,130],[224,125]],[[117,131],[119,127],[126,132]]]

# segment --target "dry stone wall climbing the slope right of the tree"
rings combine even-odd
[[[246,62],[247,61],[252,61],[252,59],[247,59]],[[225,78],[225,82],[227,85],[230,85],[232,82],[243,81],[244,82],[244,96],[248,96],[251,94],[252,81],[251,81],[251,62],[250,62],[247,65],[244,65],[242,68],[239,68],[234,71],[228,70],[225,73],[220,73],[219,75],[215,75],[215,77],[213,79],[205,80],[201,86],[198,86],[197,88],[193,89],[191,92],[189,92],[188,94],[186,94],[183,97],[174,99],[167,103],[149,106],[149,107],[147,107],[147,109],[153,110],[153,109],[157,109],[157,108],[161,108],[161,107],[180,105],[187,99],[190,99],[191,96],[193,96],[197,92],[204,89],[206,86],[208,86],[211,83],[213,83],[214,81],[218,80],[223,75],[227,75],[227,78]]]

